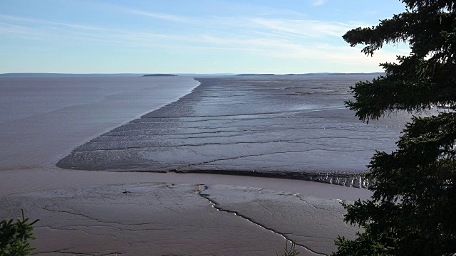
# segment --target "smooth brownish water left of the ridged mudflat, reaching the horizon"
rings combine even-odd
[[[0,78],[0,171],[53,166],[76,146],[189,93],[192,78]]]

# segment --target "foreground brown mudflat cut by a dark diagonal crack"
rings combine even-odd
[[[245,186],[66,188],[0,204],[1,216],[25,208],[41,219],[37,255],[274,255],[291,240],[301,255],[323,255],[335,250],[335,235],[358,231],[343,222],[340,200]]]

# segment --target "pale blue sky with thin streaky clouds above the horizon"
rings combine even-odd
[[[371,73],[343,41],[398,0],[1,0],[0,73]]]

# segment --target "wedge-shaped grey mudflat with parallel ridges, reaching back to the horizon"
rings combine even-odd
[[[408,114],[364,124],[344,107],[369,75],[195,78],[190,94],[78,146],[65,169],[202,172],[366,186]]]

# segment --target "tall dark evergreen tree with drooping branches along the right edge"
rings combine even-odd
[[[410,43],[398,63],[380,64],[385,76],[351,87],[346,105],[368,122],[385,113],[423,113],[413,117],[396,143],[377,151],[368,165],[368,201],[344,205],[348,223],[364,233],[339,237],[333,255],[453,255],[456,253],[456,1],[403,0],[407,11],[356,28],[343,36],[372,55],[383,43]]]

